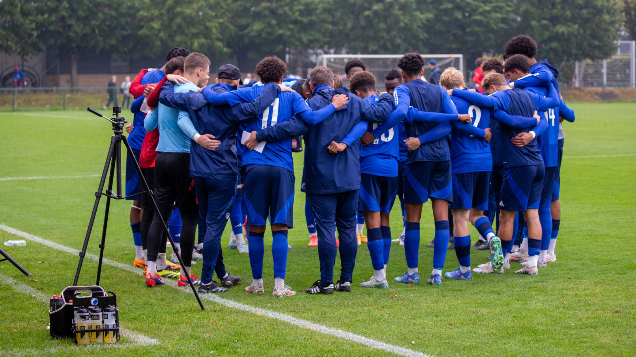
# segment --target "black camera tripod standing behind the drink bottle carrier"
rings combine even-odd
[[[99,285],[99,277],[102,272],[102,258],[104,257],[104,247],[106,244],[106,228],[108,226],[108,213],[111,206],[111,199],[114,199],[114,200],[124,199],[124,197],[121,195],[121,143],[123,143],[126,146],[128,155],[134,156],[134,154],[132,153],[132,149],[130,149],[130,144],[128,144],[128,140],[126,139],[126,136],[123,135],[123,126],[125,123],[127,123],[127,121],[125,120],[125,118],[123,118],[123,116],[119,116],[119,114],[121,113],[120,106],[113,107],[114,118],[107,118],[106,116],[102,115],[98,111],[91,109],[90,107],[86,108],[86,110],[90,111],[90,113],[93,113],[94,115],[100,116],[101,118],[104,118],[108,120],[109,122],[111,122],[111,125],[113,125],[113,136],[111,137],[111,146],[108,149],[108,154],[106,156],[106,164],[104,164],[104,171],[102,171],[102,178],[99,181],[99,188],[97,188],[97,192],[95,192],[95,205],[93,206],[93,213],[90,215],[90,221],[88,222],[88,230],[86,230],[84,245],[81,251],[79,251],[78,269],[75,272],[75,279],[73,280],[74,286],[77,286],[78,284],[79,272],[81,271],[81,265],[84,261],[84,256],[86,255],[86,248],[88,248],[88,240],[90,239],[90,234],[93,230],[93,223],[95,223],[95,216],[97,215],[97,207],[99,207],[99,200],[101,199],[102,196],[106,196],[106,211],[104,212],[104,227],[102,228],[102,242],[99,244],[99,263],[97,265],[97,282],[95,283],[95,285]],[[172,237],[170,237],[168,226],[163,220],[163,217],[161,216],[161,214],[159,213],[159,208],[157,207],[157,204],[155,202],[155,197],[152,195],[152,192],[150,188],[148,187],[148,183],[146,183],[146,178],[144,178],[144,175],[142,175],[141,169],[139,168],[139,164],[137,163],[137,161],[132,160],[132,162],[135,165],[135,170],[137,171],[137,174],[139,174],[139,178],[142,185],[141,187],[143,189],[142,194],[149,196],[153,206],[155,207],[155,214],[159,214],[159,218],[163,223],[163,229],[165,230],[165,234],[167,235],[168,240],[170,241],[170,245],[172,246],[174,253],[176,253],[177,255],[177,259],[179,260],[181,267],[183,268],[184,264],[183,264],[183,260],[181,260],[181,254],[179,254],[179,249],[174,245],[174,242],[172,241]],[[104,192],[104,184],[106,183],[106,176],[108,176],[108,188],[106,189],[106,192]],[[116,192],[113,191],[114,179],[116,179],[116,182],[117,182]],[[198,296],[197,289],[195,289],[195,286],[192,283],[190,274],[186,274],[186,275],[188,277],[188,283],[190,284],[190,287],[192,288],[192,292],[195,294],[195,297],[197,298],[198,304],[200,305],[202,310],[205,310],[205,307],[203,303],[201,302],[201,298]]]

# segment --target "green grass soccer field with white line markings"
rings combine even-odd
[[[121,343],[75,346],[46,330],[48,298],[73,283],[94,193],[112,135],[106,120],[85,111],[0,113],[0,241],[33,274],[0,263],[0,355],[84,356],[106,353],[188,356],[633,356],[636,354],[636,103],[573,103],[576,122],[564,122],[558,262],[539,276],[474,274],[473,281],[425,284],[432,267],[431,206],[422,217],[420,268],[424,280],[407,286],[404,249],[391,247],[388,290],[359,288],[373,270],[359,246],[351,293],[308,295],[319,279],[316,248],[308,247],[302,153],[294,154],[296,199],[286,284],[298,294],[273,298],[271,233],[265,234],[265,295],[245,293],[247,255],[222,247],[228,272],[242,283],[207,294],[201,311],[189,287],[147,288],[132,267],[131,201],[111,204],[107,258],[100,285],[118,295]],[[129,121],[132,114],[125,113]],[[125,160],[124,160],[125,162]],[[88,253],[99,254],[102,200]],[[399,203],[392,233],[402,230]],[[471,228],[472,241],[476,230]],[[22,237],[21,237],[21,236]],[[268,238],[269,237],[269,238]],[[66,248],[65,248],[66,247]],[[472,265],[487,251],[472,250]],[[200,276],[202,264],[193,265]],[[457,266],[448,251],[444,271]],[[336,260],[336,279],[340,270]],[[80,284],[95,283],[97,263],[85,259]],[[88,349],[89,351],[85,351]]]

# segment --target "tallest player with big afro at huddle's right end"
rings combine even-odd
[[[556,90],[559,89],[559,85],[558,85],[558,81],[556,81],[556,78],[558,78],[559,76],[559,72],[558,69],[556,69],[554,66],[551,66],[550,63],[548,63],[548,60],[541,60],[538,61],[535,59],[536,54],[537,54],[537,43],[536,41],[534,41],[534,39],[530,38],[530,36],[527,35],[519,35],[519,36],[515,36],[514,38],[510,39],[510,41],[508,41],[508,43],[506,43],[506,48],[504,50],[504,52],[507,55],[515,55],[515,54],[520,54],[523,55],[523,57],[525,57],[530,65],[530,73],[532,74],[532,76],[528,76],[526,78],[522,78],[519,80],[516,80],[515,82],[512,83],[512,87],[519,87],[519,88],[527,88],[527,87],[543,87],[543,88],[547,88],[550,84],[554,85]],[[563,103],[563,106],[565,106],[565,103]],[[565,106],[565,108],[567,108],[567,106]],[[569,108],[568,108],[569,109]],[[559,115],[559,108],[555,109],[554,113],[549,113],[551,114],[551,116],[554,117],[554,119],[556,120],[556,118],[560,118],[561,116]],[[572,116],[573,118],[573,116]],[[552,119],[550,119],[550,121],[552,121]],[[551,128],[553,129],[553,128]],[[559,177],[560,178],[560,164],[558,163],[559,160],[559,155],[560,153],[562,153],[562,145],[559,140],[559,137],[561,137],[561,133],[562,133],[562,125],[559,124],[559,129],[558,129],[558,134],[556,135],[556,145],[553,143],[553,138],[554,138],[554,133],[557,132],[557,130],[552,130],[551,132],[551,136],[550,136],[550,140],[548,141],[547,146],[545,146],[542,149],[542,153],[545,152],[548,155],[548,160],[550,161],[550,164],[553,165],[555,162],[555,157],[556,157],[556,169],[554,170],[554,176]],[[543,147],[544,145],[542,145]],[[555,155],[555,149],[554,146],[556,146],[556,155]],[[556,186],[554,186],[556,185]],[[558,190],[560,189],[560,181],[558,183],[553,183],[553,191],[555,191],[555,193],[553,194],[552,200],[551,200],[551,205],[550,205],[550,211],[551,211],[551,225],[552,225],[552,231],[553,233],[551,234],[553,239],[550,240],[550,245],[548,247],[548,249],[550,250],[550,252],[546,253],[546,260],[547,261],[555,261],[556,260],[556,255],[554,253],[554,246],[556,244],[556,236],[558,235],[558,230],[559,230],[559,226],[560,226],[560,220],[561,220],[561,205],[560,202],[558,200]],[[544,214],[545,215],[545,214]],[[544,218],[544,220],[547,220],[547,216],[546,218]],[[522,247],[525,248],[525,253],[527,253],[527,241],[524,240],[524,244],[522,244]],[[543,247],[542,247],[543,248]],[[515,258],[518,260],[523,260],[525,258],[524,252],[523,251],[519,251],[518,253],[515,254]]]

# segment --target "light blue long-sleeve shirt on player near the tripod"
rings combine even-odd
[[[197,85],[191,81],[174,87],[176,93],[190,91],[198,91]],[[144,127],[147,131],[159,127],[159,143],[156,151],[164,153],[189,153],[192,136],[197,132],[187,111],[170,108],[162,103],[159,103],[157,108],[146,116]]]

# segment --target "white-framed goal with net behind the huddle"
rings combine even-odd
[[[347,85],[345,64],[350,59],[361,59],[366,65],[366,70],[373,73],[377,82],[378,89],[384,88],[384,76],[391,71],[397,69],[397,60],[403,55],[321,55],[317,59],[317,66],[326,66],[331,68],[334,74],[340,74],[343,78],[343,84]],[[426,55],[423,54],[425,63],[429,60],[436,60],[439,69],[444,71],[448,67],[455,67],[464,73],[464,56],[463,55]],[[429,78],[430,70],[428,66],[424,66],[424,77]],[[465,75],[465,74],[464,74]]]

